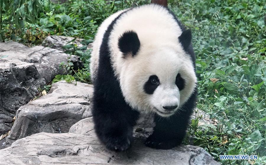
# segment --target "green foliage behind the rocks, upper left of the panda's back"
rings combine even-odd
[[[111,14],[121,9],[149,2],[148,0],[68,0],[64,4],[52,4],[50,0],[4,0],[4,3],[7,2],[9,5],[14,1],[20,1],[24,8],[17,5],[18,9],[15,10],[17,12],[11,9],[4,10],[3,16],[6,18],[7,24],[18,17],[17,27],[23,27],[25,30],[17,32],[9,25],[4,24],[3,36],[7,38],[6,40],[17,40],[30,45],[37,45],[45,38],[38,37],[40,32],[45,36],[65,35],[86,40],[93,39],[98,26]],[[33,5],[32,10],[31,3]],[[34,8],[37,3],[41,4],[38,5],[40,7],[38,10],[36,7]],[[22,14],[19,14],[20,10]],[[8,18],[12,12],[15,13],[16,17],[12,17],[13,19],[10,20]],[[24,17],[25,19],[23,19]],[[30,37],[25,36],[27,30],[31,34]]]

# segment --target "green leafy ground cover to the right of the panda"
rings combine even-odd
[[[220,160],[223,154],[254,154],[255,164],[265,164],[265,1],[186,0],[169,6],[193,32],[197,107],[217,122],[198,125],[194,119],[188,135],[222,164],[249,164]]]

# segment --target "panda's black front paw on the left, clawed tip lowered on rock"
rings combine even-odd
[[[113,151],[125,151],[130,147],[131,142],[132,138],[130,137],[110,138],[109,141],[106,143],[106,147]]]

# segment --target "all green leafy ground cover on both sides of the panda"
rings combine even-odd
[[[69,0],[66,4],[50,4],[44,0],[45,12],[39,14],[36,24],[25,24],[25,31],[16,34],[10,34],[8,25],[3,28],[7,39],[12,35],[12,39],[28,45],[39,44],[47,35],[84,38],[88,44],[109,15],[145,3]],[[215,125],[198,125],[199,119],[193,119],[184,143],[192,139],[221,164],[266,164],[265,1],[168,0],[168,6],[192,29],[197,55],[197,107],[216,121]],[[72,63],[63,64],[69,75],[59,75],[54,82],[67,79],[89,83],[90,50],[77,45],[65,49],[79,55],[85,68],[74,71]],[[237,154],[258,155],[258,159],[219,159],[219,155]]]

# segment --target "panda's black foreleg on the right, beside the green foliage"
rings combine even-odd
[[[155,115],[154,121],[156,125],[153,128],[153,134],[147,138],[145,145],[157,149],[171,149],[180,145],[186,135],[195,101],[196,92],[184,104],[182,110],[178,110],[174,115],[170,117]]]

